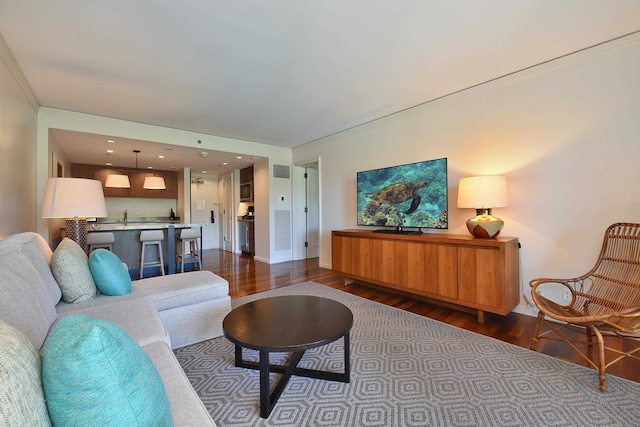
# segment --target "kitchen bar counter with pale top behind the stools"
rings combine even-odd
[[[89,223],[88,232],[111,231],[115,236],[113,253],[127,264],[132,277],[140,277],[140,232],[143,230],[163,230],[162,242],[163,258],[168,274],[176,272],[176,230],[183,228],[202,228],[201,224],[180,224],[175,222],[128,222],[124,223]],[[179,242],[178,242],[179,244]],[[201,245],[202,247],[202,245]],[[202,256],[202,250],[200,255]],[[151,254],[147,255],[149,258]],[[147,259],[149,259],[147,258]],[[157,269],[156,269],[157,271]]]

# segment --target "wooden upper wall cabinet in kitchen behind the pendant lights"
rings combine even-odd
[[[129,176],[131,188],[106,188],[104,183],[110,174],[125,174]],[[166,185],[165,190],[145,190],[142,188],[147,176],[161,176]],[[105,197],[141,197],[157,199],[178,198],[178,173],[175,171],[147,171],[133,168],[116,168],[113,166],[86,165],[73,163],[71,165],[73,178],[89,178],[102,182]]]

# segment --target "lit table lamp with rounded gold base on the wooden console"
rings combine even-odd
[[[504,221],[491,215],[491,208],[505,206],[508,203],[504,176],[472,176],[460,180],[458,207],[476,210],[476,216],[467,221],[467,229],[474,237],[497,237]]]

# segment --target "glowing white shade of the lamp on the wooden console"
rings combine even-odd
[[[508,206],[504,176],[472,176],[458,185],[459,208],[501,208]]]

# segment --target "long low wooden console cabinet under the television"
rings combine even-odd
[[[333,270],[456,308],[506,315],[520,301],[518,239],[333,231]]]

